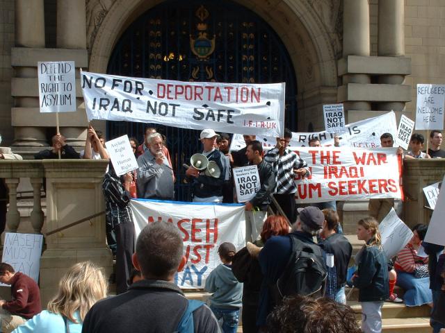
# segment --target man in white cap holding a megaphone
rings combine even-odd
[[[193,179],[192,191],[195,203],[222,203],[225,178],[224,155],[215,149],[217,134],[212,129],[202,130],[202,154],[191,157],[191,167],[186,176]]]

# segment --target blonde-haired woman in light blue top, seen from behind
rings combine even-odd
[[[108,284],[92,262],[72,266],[59,282],[59,290],[48,302],[48,309],[34,316],[13,333],[80,333],[88,310],[106,297]]]

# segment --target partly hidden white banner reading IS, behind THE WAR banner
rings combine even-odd
[[[393,137],[397,134],[396,114],[388,112],[378,117],[373,117],[345,126],[345,132],[340,135],[340,146],[357,148],[380,147],[380,135],[391,133]],[[248,134],[248,133],[243,133]],[[304,147],[309,145],[309,140],[314,137],[320,140],[322,146],[334,146],[334,133],[292,133],[291,147]],[[275,146],[275,137],[262,137],[257,135],[257,140],[262,142],[264,149]],[[245,147],[243,135],[235,134],[230,144],[231,151],[239,151]]]

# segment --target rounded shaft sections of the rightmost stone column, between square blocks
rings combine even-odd
[[[405,56],[405,3],[404,0],[385,0],[378,3],[378,56]],[[382,75],[379,83],[402,85],[404,75]],[[379,110],[402,111],[404,102],[379,103]]]

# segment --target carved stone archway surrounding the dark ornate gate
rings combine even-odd
[[[89,70],[105,73],[115,43],[127,26],[160,0],[87,1]],[[296,69],[299,130],[323,126],[323,103],[337,98],[341,53],[341,0],[236,0],[280,35]]]

